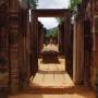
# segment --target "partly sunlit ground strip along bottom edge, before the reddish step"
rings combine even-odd
[[[74,94],[19,94],[9,96],[9,98],[96,98],[93,91],[77,89]]]

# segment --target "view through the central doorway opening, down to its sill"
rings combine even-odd
[[[62,71],[65,71],[65,57],[61,44],[63,39],[61,35],[63,35],[63,32],[60,33],[61,29],[58,22],[60,17],[41,17],[42,21],[44,19],[48,20],[50,25],[52,25],[51,22],[56,20],[57,24],[54,27],[51,26],[48,28],[42,26],[44,24],[41,22],[38,22],[38,70],[59,71],[60,66],[63,65],[61,66]]]

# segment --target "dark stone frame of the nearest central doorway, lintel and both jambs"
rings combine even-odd
[[[68,73],[72,76],[71,70],[73,71],[72,66],[72,50],[73,47],[71,46],[72,40],[71,40],[71,23],[70,23],[70,16],[71,13],[70,11],[66,10],[53,10],[53,9],[48,9],[48,10],[32,10],[32,34],[30,34],[30,47],[32,47],[32,62],[30,62],[30,74],[35,76],[35,74],[38,72],[38,17],[64,17],[64,24],[63,24],[63,41],[62,45],[65,45],[63,47],[64,50],[64,68],[66,69]],[[61,28],[62,29],[62,28]],[[60,38],[62,39],[62,37]],[[64,69],[64,71],[65,71]]]

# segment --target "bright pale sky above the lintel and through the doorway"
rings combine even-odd
[[[37,9],[68,9],[70,0],[38,0]],[[38,19],[46,28],[58,26],[54,17],[39,17]]]

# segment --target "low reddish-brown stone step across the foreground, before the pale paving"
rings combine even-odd
[[[25,93],[28,94],[72,94],[75,87],[28,87]]]

